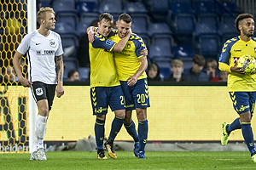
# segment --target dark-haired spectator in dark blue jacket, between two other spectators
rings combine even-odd
[[[206,65],[206,59],[204,56],[195,54],[193,57],[192,67],[189,72],[185,74],[187,80],[190,82],[208,82],[210,77],[206,72],[203,72],[204,65]]]

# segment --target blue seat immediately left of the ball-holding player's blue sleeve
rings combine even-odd
[[[201,54],[205,58],[218,58],[220,54],[220,38],[218,36],[202,35],[199,37]]]

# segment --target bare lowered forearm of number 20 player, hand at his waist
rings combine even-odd
[[[137,72],[133,76],[127,79],[128,81],[127,83],[129,86],[134,85],[137,82],[138,77],[140,77],[143,74],[143,72],[146,71],[147,69],[147,66],[148,66],[147,56],[143,56],[139,58],[139,60],[141,62],[141,65],[139,66]]]

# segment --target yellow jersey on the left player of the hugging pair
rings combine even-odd
[[[89,44],[90,88],[113,87],[120,85],[113,63],[113,46],[115,42],[102,35],[95,35]]]

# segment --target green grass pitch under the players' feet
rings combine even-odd
[[[98,160],[96,152],[46,152],[47,161],[29,161],[30,154],[0,154],[0,169],[256,169],[248,152],[146,152],[142,160],[130,151]]]

